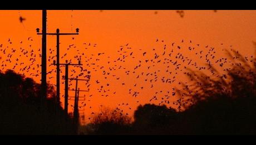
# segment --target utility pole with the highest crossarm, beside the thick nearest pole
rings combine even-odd
[[[60,103],[60,35],[78,35],[79,29],[76,28],[76,33],[60,33],[60,29],[56,29],[56,33],[46,33],[46,35],[56,35],[57,36],[57,74],[56,74],[56,93],[57,93],[57,103]],[[38,35],[43,35],[43,33],[37,33]]]

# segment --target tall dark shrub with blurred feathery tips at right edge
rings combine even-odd
[[[188,97],[183,102],[195,102],[184,111],[184,120],[190,122],[186,133],[256,133],[256,61],[248,60],[234,50],[232,53],[228,51],[228,55],[232,68],[227,69],[227,74],[220,74],[212,68],[218,79],[191,71],[197,85],[180,92],[184,98]]]

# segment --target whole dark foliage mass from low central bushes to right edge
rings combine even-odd
[[[98,116],[93,120],[97,130],[89,134],[256,134],[256,60],[234,50],[227,53],[232,62],[227,74],[213,66],[210,70],[218,77],[190,70],[194,85],[178,90],[179,111],[140,105],[134,122],[120,124]]]

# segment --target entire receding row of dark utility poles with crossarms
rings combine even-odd
[[[47,52],[47,48],[46,48],[46,36],[47,35],[56,35],[56,40],[57,40],[57,45],[56,45],[56,49],[57,49],[57,62],[53,61],[53,65],[56,65],[56,103],[60,104],[60,65],[65,65],[65,106],[64,106],[64,110],[65,110],[65,114],[66,117],[68,117],[68,80],[76,80],[76,89],[75,89],[75,103],[74,103],[74,112],[73,112],[73,122],[74,124],[78,127],[79,125],[79,113],[78,113],[78,98],[79,98],[79,92],[80,91],[88,91],[88,90],[80,90],[79,88],[77,89],[77,84],[78,84],[78,80],[82,80],[82,81],[89,81],[90,80],[90,75],[87,75],[88,79],[78,79],[77,77],[75,79],[72,78],[68,78],[68,66],[70,65],[82,65],[80,61],[78,61],[78,64],[71,64],[68,63],[66,60],[65,64],[60,64],[60,35],[78,35],[79,33],[79,29],[76,29],[76,33],[60,33],[60,29],[56,29],[56,33],[47,33],[47,11],[46,10],[42,10],[42,33],[40,33],[40,29],[37,28],[37,35],[42,35],[42,57],[41,57],[41,69],[42,69],[42,75],[41,75],[41,108],[44,107],[43,102],[45,102],[44,100],[47,97],[47,84],[46,84],[46,72],[47,72],[47,64],[46,64],[46,52]],[[88,72],[90,73],[90,72]]]

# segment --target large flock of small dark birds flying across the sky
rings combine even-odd
[[[75,39],[72,38],[72,40]],[[193,78],[188,69],[208,71],[214,77],[227,79],[227,75],[219,76],[214,67],[228,71],[232,65],[239,65],[233,64],[227,57],[216,55],[218,50],[227,50],[217,50],[209,45],[193,44],[191,40],[165,43],[164,40],[156,39],[155,43],[159,47],[145,50],[132,48],[129,43],[120,45],[120,48],[116,50],[116,56],[95,51],[96,43],[82,43],[83,48],[81,49],[75,44],[68,45],[65,53],[61,55],[61,61],[68,60],[68,63],[81,61],[83,64],[70,67],[69,77],[78,76],[81,79],[86,79],[89,71],[91,74],[91,80],[83,85],[84,88],[91,90],[89,94],[83,95],[87,96],[87,99],[80,102],[80,108],[88,106],[91,110],[90,114],[95,115],[92,106],[88,105],[93,100],[93,95],[115,97],[118,94],[122,95],[123,102],[117,103],[116,110],[120,111],[120,115],[129,115],[122,108],[127,107],[132,110],[131,102],[125,102],[125,97],[132,97],[139,105],[140,101],[145,102],[140,99],[140,96],[147,94],[147,102],[171,107],[177,106],[179,109],[181,103],[185,106],[193,103],[192,101],[183,101],[182,94],[177,95],[178,89],[188,89],[191,86],[189,80],[184,82],[180,79],[185,75],[189,79]],[[11,39],[8,39],[7,44],[0,44],[0,55],[2,56],[0,69],[3,71],[13,69],[27,77],[39,78],[41,76],[41,50],[33,45],[32,37],[28,37],[26,43],[19,42],[19,49],[14,49],[13,44]],[[227,48],[227,46],[225,47]],[[234,51],[231,45],[229,49]],[[52,65],[52,61],[56,59],[56,52],[52,48],[48,50],[47,81],[55,85],[56,66]],[[90,50],[90,53],[87,50]],[[252,62],[253,56],[245,57],[245,59]],[[63,67],[65,66],[61,66],[62,86],[65,78],[63,72],[65,68]],[[70,80],[69,89],[73,88],[74,84],[74,81]],[[126,89],[127,91],[125,91]],[[127,94],[125,94],[126,92]],[[63,94],[62,97],[64,97]],[[72,107],[71,103],[70,106]],[[88,118],[90,119],[90,117]]]

